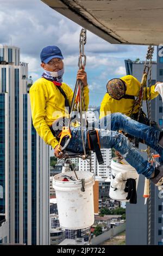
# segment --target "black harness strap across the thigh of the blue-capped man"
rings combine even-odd
[[[101,147],[100,147],[100,142],[99,142],[99,136],[98,136],[98,131],[97,130],[92,130],[87,132],[87,140],[89,144],[89,149],[93,150],[93,152],[96,153],[96,157],[98,160],[99,164],[104,163],[103,161],[103,156],[101,153]]]

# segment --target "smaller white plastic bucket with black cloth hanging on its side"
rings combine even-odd
[[[124,190],[117,189],[117,187],[114,186],[114,177],[121,173],[124,173],[127,179],[135,179],[136,181],[136,189],[139,181],[139,174],[136,172],[136,169],[126,161],[122,160],[124,164],[115,162],[117,161],[117,157],[111,160],[111,181],[110,181],[110,191],[109,191],[109,196],[110,198],[114,200],[119,200],[119,201],[126,201],[129,202],[129,200],[126,199],[128,196],[128,193],[124,192]],[[124,186],[126,184],[126,181],[124,181]]]

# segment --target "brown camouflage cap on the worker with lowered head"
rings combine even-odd
[[[120,78],[113,78],[106,84],[109,95],[115,100],[121,100],[126,94],[126,83]]]

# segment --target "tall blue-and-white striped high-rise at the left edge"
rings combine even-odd
[[[31,81],[20,48],[0,46],[0,81],[0,214],[6,223],[0,239],[48,245],[49,149],[32,124]]]

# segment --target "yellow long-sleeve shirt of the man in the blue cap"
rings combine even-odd
[[[62,83],[61,88],[64,90],[68,103],[71,106],[73,91]],[[30,87],[30,105],[32,109],[33,125],[39,133],[40,137],[55,148],[59,143],[52,134],[49,126],[60,117],[67,117],[68,112],[65,112],[65,97],[60,93],[59,89],[53,82],[40,78]],[[85,110],[89,105],[89,88],[84,87]]]

